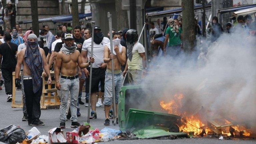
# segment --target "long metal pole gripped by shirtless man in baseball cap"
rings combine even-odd
[[[94,37],[94,24],[95,21],[92,21],[92,46],[91,46],[91,57],[93,57],[93,37]],[[87,115],[87,123],[90,123],[90,108],[91,108],[91,92],[92,92],[92,63],[90,67],[90,80],[89,80],[89,100],[88,100],[88,115]]]

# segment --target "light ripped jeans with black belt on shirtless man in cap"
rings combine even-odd
[[[68,104],[68,94],[70,92],[70,110],[72,122],[77,122],[77,99],[79,93],[79,79],[64,79],[60,78],[60,122],[66,122],[66,109]]]

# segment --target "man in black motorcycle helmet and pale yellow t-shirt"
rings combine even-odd
[[[145,48],[138,42],[138,32],[135,29],[126,32],[126,40],[128,59],[123,75],[127,73],[129,84],[140,85],[147,69]]]

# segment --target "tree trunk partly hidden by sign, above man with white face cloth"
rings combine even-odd
[[[124,28],[129,28],[127,11],[122,10],[122,1],[115,0],[115,2],[116,2],[117,30],[123,30]]]

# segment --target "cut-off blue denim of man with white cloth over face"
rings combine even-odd
[[[123,86],[123,73],[114,74],[115,83],[115,103],[118,103],[119,92]],[[111,105],[113,100],[113,82],[112,73],[106,71],[105,74],[105,93],[104,93],[104,105]]]

